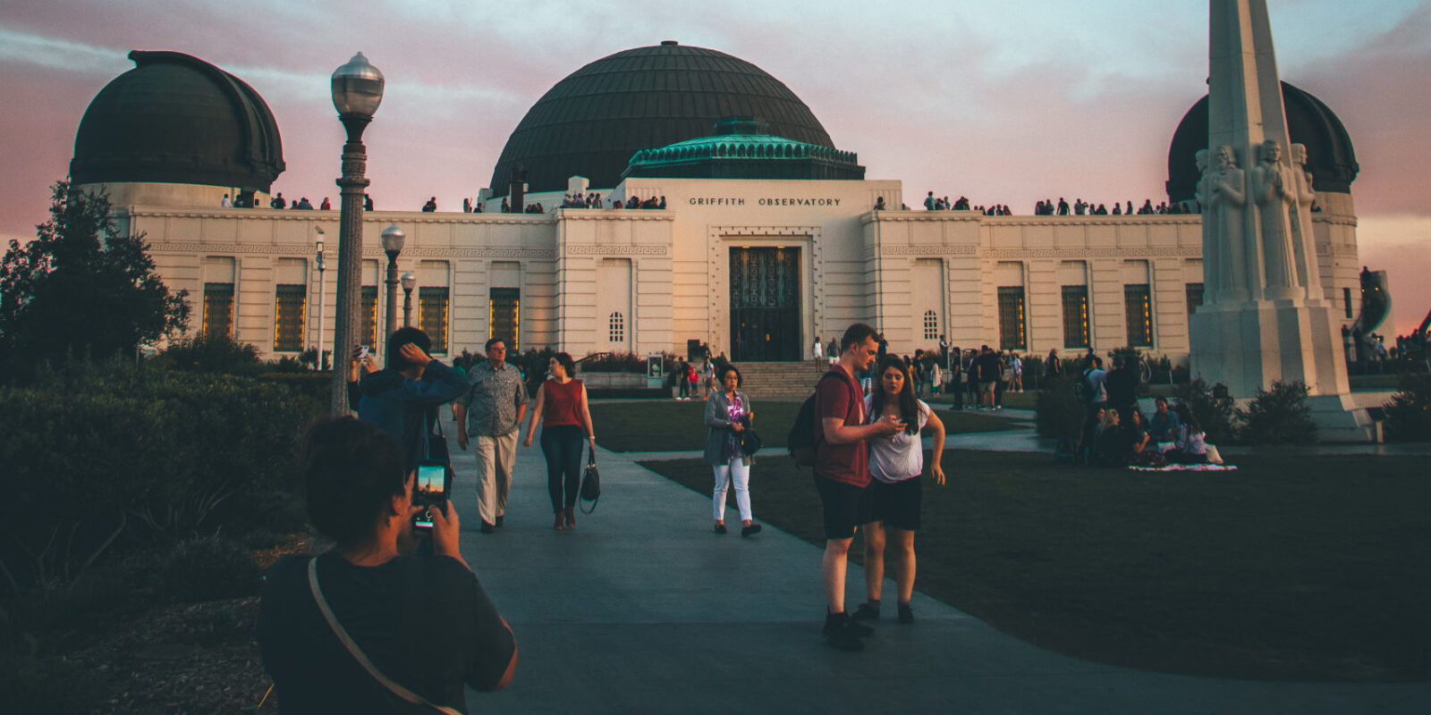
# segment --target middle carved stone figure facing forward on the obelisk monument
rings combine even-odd
[[[1282,144],[1262,142],[1262,160],[1252,170],[1252,196],[1262,227],[1262,262],[1268,297],[1296,297],[1292,214],[1296,213],[1296,172],[1282,160]]]

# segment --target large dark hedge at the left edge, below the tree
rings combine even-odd
[[[73,579],[114,543],[263,525],[322,412],[285,385],[126,360],[44,372],[0,403],[0,562],[17,588]]]

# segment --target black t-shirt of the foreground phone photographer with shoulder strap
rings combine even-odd
[[[308,556],[268,572],[258,641],[279,712],[421,712],[375,681],[328,626],[308,586]],[[318,558],[318,583],[338,622],[388,679],[467,712],[464,684],[489,691],[517,642],[477,576],[446,556],[381,566]]]

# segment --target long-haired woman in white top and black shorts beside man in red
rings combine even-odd
[[[890,416],[904,423],[904,430],[889,439],[871,439],[870,452],[870,516],[860,526],[864,533],[864,592],[867,601],[850,616],[854,621],[874,621],[880,616],[880,595],[884,588],[884,532],[894,543],[894,583],[899,586],[899,622],[913,623],[914,611],[914,532],[919,531],[924,473],[924,448],[919,433],[933,436],[933,459],[929,476],[944,486],[940,458],[944,453],[944,423],[910,390],[909,370],[897,359],[886,358],[874,393],[864,398],[867,422]]]

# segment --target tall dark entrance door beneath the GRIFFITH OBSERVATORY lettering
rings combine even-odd
[[[730,249],[730,359],[798,360],[800,249]]]

